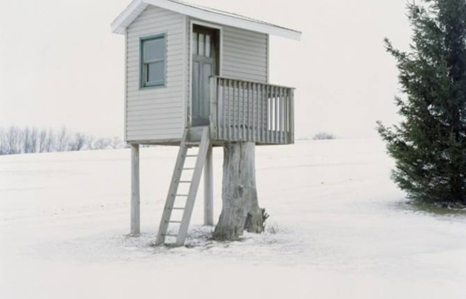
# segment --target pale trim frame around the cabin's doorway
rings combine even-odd
[[[193,124],[193,29],[194,25],[200,25],[204,27],[208,27],[211,29],[217,29],[219,35],[218,41],[218,75],[223,76],[223,26],[202,22],[195,19],[191,19],[189,22],[189,34],[188,34],[188,45],[189,45],[189,98],[188,98],[188,127],[191,127]]]

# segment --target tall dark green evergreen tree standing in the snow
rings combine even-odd
[[[466,0],[408,4],[410,51],[387,51],[405,97],[400,124],[378,131],[396,161],[392,178],[408,197],[466,204]]]

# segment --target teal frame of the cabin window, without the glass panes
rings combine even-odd
[[[149,63],[144,60],[144,43],[150,42],[151,40],[163,40],[163,58],[150,60]],[[167,82],[167,33],[160,33],[156,35],[144,36],[139,38],[139,88],[161,88],[166,87]],[[161,63],[163,62],[163,79],[161,81],[146,81],[147,77],[147,68],[151,63]]]

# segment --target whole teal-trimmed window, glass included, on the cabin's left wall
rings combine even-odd
[[[166,34],[140,39],[140,87],[165,86]]]

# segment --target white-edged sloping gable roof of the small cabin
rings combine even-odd
[[[175,0],[134,0],[129,6],[118,15],[112,22],[111,29],[113,33],[124,34],[125,29],[131,24],[140,13],[147,8],[147,6],[157,6],[166,10],[172,10],[176,13],[182,13],[190,17],[202,19],[207,22],[214,22],[227,26],[233,26],[240,29],[266,33],[270,35],[277,35],[282,38],[289,38],[292,40],[300,40],[301,33],[293,29],[287,29],[275,24],[262,22],[257,19],[237,15],[235,13],[227,13],[222,10],[214,8],[207,8],[198,6],[191,3]]]

